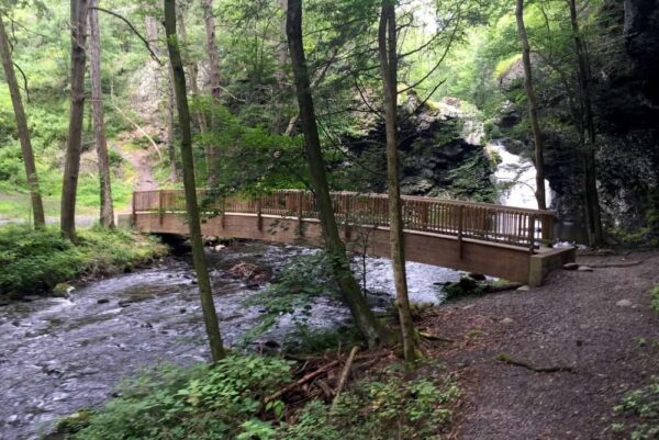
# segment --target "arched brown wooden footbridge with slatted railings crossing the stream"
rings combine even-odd
[[[333,193],[334,214],[348,248],[389,257],[386,194]],[[322,245],[314,196],[276,191],[254,198],[209,200],[200,192],[202,232],[226,238]],[[182,191],[133,194],[132,224],[153,234],[186,235]],[[551,269],[573,261],[573,249],[548,249],[554,213],[487,203],[403,198],[407,260],[539,285]]]

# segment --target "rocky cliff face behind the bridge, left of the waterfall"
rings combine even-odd
[[[494,163],[479,145],[479,124],[448,100],[413,114],[401,109],[401,191],[493,202]],[[345,156],[334,168],[336,185],[360,192],[387,192],[384,124],[367,127],[362,135],[346,137]]]

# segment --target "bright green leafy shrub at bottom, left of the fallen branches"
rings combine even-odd
[[[213,366],[166,368],[121,386],[122,396],[92,415],[77,440],[270,439],[281,416],[265,396],[291,381],[291,364],[278,358],[230,356]]]

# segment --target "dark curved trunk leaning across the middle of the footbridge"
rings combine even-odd
[[[346,250],[338,235],[336,218],[325,174],[325,160],[321,150],[321,139],[315,121],[315,110],[310,91],[309,70],[302,44],[302,0],[290,0],[287,12],[287,35],[291,63],[295,77],[298,104],[304,133],[304,149],[311,170],[312,185],[320,211],[325,249],[333,263],[334,275],[342,290],[343,297],[350,308],[357,328],[364,335],[369,347],[380,343],[383,329],[361,296],[359,285],[350,270]]]

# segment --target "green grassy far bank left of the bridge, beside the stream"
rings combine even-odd
[[[0,227],[0,295],[49,293],[59,283],[132,270],[167,251],[154,238],[129,230],[94,227],[78,235],[72,244],[54,227]]]

